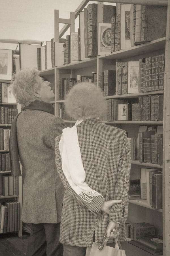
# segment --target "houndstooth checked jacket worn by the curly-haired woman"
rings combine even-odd
[[[102,197],[94,196],[85,202],[70,187],[65,178],[59,153],[61,135],[56,137],[56,166],[66,188],[61,214],[60,242],[67,245],[88,247],[95,238],[103,240],[109,221],[120,222],[120,241],[126,240],[125,221],[128,216],[128,190],[130,173],[130,148],[126,132],[102,123],[99,119],[87,119],[77,125],[78,141],[86,183]],[[110,214],[102,212],[104,201],[122,199],[114,204]],[[109,240],[109,243],[113,239]]]

